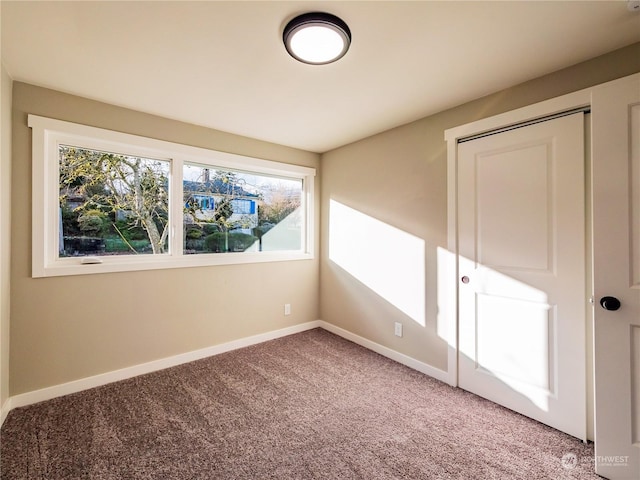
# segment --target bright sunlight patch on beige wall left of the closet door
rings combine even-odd
[[[329,258],[425,326],[424,240],[331,200]]]

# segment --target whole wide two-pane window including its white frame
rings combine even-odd
[[[313,257],[312,168],[29,116],[34,277]]]

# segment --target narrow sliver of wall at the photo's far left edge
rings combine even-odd
[[[12,81],[4,65],[0,67],[0,406],[4,406],[9,398]]]

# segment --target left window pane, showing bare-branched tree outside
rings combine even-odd
[[[168,251],[169,162],[59,147],[60,257]]]

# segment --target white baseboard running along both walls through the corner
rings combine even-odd
[[[79,380],[74,380],[72,382],[54,385],[52,387],[46,387],[40,390],[34,390],[31,392],[9,397],[0,409],[0,426],[4,423],[4,420],[9,414],[9,411],[11,411],[13,408],[25,407],[34,403],[51,400],[53,398],[62,397],[71,393],[81,392],[83,390],[99,387],[108,383],[126,380],[127,378],[136,377],[138,375],[156,372],[165,368],[175,367],[177,365],[182,365],[183,363],[200,360],[202,358],[207,358],[213,355],[218,355],[220,353],[256,345],[258,343],[267,342],[269,340],[275,340],[276,338],[286,337],[287,335],[293,335],[295,333],[304,332],[306,330],[311,330],[318,327],[324,328],[331,333],[357,343],[358,345],[368,348],[369,350],[379,353],[380,355],[395,360],[398,363],[402,363],[403,365],[406,365],[410,368],[413,368],[414,370],[422,372],[438,380],[441,380],[443,382],[448,382],[449,380],[449,374],[444,370],[432,367],[431,365],[420,362],[412,357],[404,355],[400,352],[396,352],[395,350],[391,350],[390,348],[372,342],[371,340],[367,340],[366,338],[351,333],[340,327],[336,327],[335,325],[327,323],[323,320],[315,320],[312,322],[302,323],[300,325],[294,325],[292,327],[275,330],[273,332],[253,335],[251,337],[241,338],[239,340],[234,340],[220,345],[214,345],[200,350],[194,350],[192,352],[174,355],[172,357],[161,358],[152,362],[142,363],[140,365],[134,365],[132,367],[114,370],[112,372],[82,378]]]

